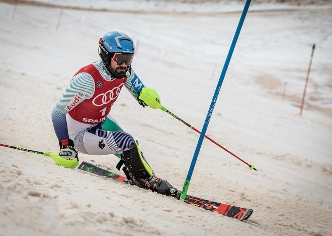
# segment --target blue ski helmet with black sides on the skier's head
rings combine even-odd
[[[104,64],[110,68],[111,60],[116,52],[134,54],[135,46],[133,40],[128,35],[118,31],[111,31],[99,40],[98,51]],[[133,55],[131,56],[131,60],[132,57]]]

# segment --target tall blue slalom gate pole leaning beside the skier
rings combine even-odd
[[[194,168],[195,168],[197,157],[198,157],[199,151],[201,150],[203,139],[204,139],[206,130],[208,128],[211,116],[212,116],[213,108],[214,108],[214,106],[217,102],[219,91],[220,91],[222,82],[224,81],[226,71],[227,71],[227,68],[228,68],[228,65],[229,65],[229,62],[230,62],[230,58],[232,57],[232,54],[233,54],[233,51],[234,51],[234,48],[235,48],[235,45],[236,45],[236,41],[237,41],[238,35],[240,34],[240,31],[241,31],[246,13],[248,12],[248,8],[250,6],[250,3],[251,3],[251,0],[246,0],[243,11],[242,11],[242,15],[240,17],[240,20],[238,22],[238,25],[237,25],[237,28],[236,28],[236,31],[235,31],[235,34],[234,34],[234,37],[233,37],[233,40],[232,40],[232,44],[230,45],[230,48],[229,48],[229,51],[228,51],[228,54],[227,54],[227,57],[226,57],[224,67],[222,68],[216,90],[214,92],[214,95],[213,95],[208,113],[207,113],[206,118],[205,118],[205,122],[204,122],[204,125],[203,125],[203,128],[202,128],[202,133],[199,136],[197,146],[196,146],[196,150],[195,150],[193,159],[191,161],[190,168],[188,170],[187,178],[186,178],[185,184],[183,185],[183,189],[182,189],[182,193],[181,193],[181,197],[180,197],[182,200],[185,200],[185,198],[187,196],[191,176],[192,176]]]

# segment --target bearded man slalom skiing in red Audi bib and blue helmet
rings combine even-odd
[[[53,107],[59,155],[78,160],[77,152],[115,154],[120,157],[117,168],[124,165],[132,184],[179,199],[181,192],[154,174],[138,142],[110,115],[123,86],[140,105],[160,106],[158,93],[145,87],[130,66],[135,53],[132,39],[122,32],[109,32],[99,40],[98,51],[101,60],[76,72]]]

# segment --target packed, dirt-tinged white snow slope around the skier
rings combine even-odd
[[[0,3],[0,143],[58,151],[52,106],[78,69],[99,60],[98,40],[110,30],[133,38],[132,67],[162,104],[202,128],[238,10],[181,14],[172,2],[168,14],[127,13],[139,1],[126,1],[117,13],[51,2],[61,7]],[[247,14],[207,131],[258,171],[205,140],[188,192],[252,208],[249,220],[0,147],[0,235],[331,235],[332,8],[269,6],[254,3],[261,10]],[[112,114],[155,173],[182,188],[199,135],[125,89]],[[117,172],[114,155],[79,158]]]

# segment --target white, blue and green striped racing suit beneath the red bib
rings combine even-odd
[[[108,82],[117,80],[108,73],[102,60],[92,65],[97,68],[104,80]],[[144,87],[133,69],[127,72],[124,86],[136,100]],[[96,122],[96,124],[79,122],[68,113],[68,105],[72,104],[77,94],[84,94],[84,96],[80,97],[79,102],[74,103],[72,107],[79,105],[86,99],[91,99],[92,96],[96,95],[95,92],[96,83],[90,74],[78,73],[72,78],[52,110],[52,122],[56,136],[59,141],[68,138],[73,140],[74,148],[81,153],[92,155],[122,154],[125,148],[135,143],[135,140],[130,134],[122,130],[110,113],[105,121]]]

